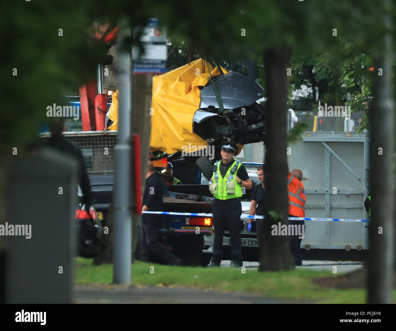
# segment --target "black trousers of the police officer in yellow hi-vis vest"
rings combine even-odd
[[[242,264],[242,240],[240,216],[242,205],[239,198],[213,200],[211,204],[213,226],[215,230],[212,263],[220,264],[223,259],[223,235],[226,228],[230,232],[231,259],[233,263]]]

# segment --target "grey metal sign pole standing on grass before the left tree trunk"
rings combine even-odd
[[[130,176],[131,162],[129,137],[131,135],[131,51],[124,47],[124,32],[120,36],[120,57],[118,73],[118,133],[114,147],[114,251],[113,283],[131,283],[131,199]]]

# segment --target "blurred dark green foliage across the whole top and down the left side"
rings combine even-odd
[[[2,91],[6,93],[2,113],[7,123],[1,139],[2,148],[8,150],[35,136],[40,122],[48,120],[48,105],[62,103],[61,95],[75,91],[90,78],[95,79],[95,65],[106,47],[92,38],[94,22],[116,24],[124,16],[128,17],[131,25],[138,26],[144,25],[147,17],[160,17],[168,27],[172,42],[184,42],[192,51],[192,59],[202,55],[206,55],[208,61],[221,59],[221,64],[228,69],[230,61],[225,59],[253,54],[257,64],[255,78],[261,78],[258,82],[264,88],[261,60],[264,49],[288,44],[293,52],[305,51],[337,59],[342,37],[346,45],[353,45],[348,46],[350,49],[344,53],[350,53],[348,56],[354,61],[349,65],[345,62],[345,70],[348,71],[334,76],[345,78],[343,81],[347,88],[345,93],[341,93],[345,95],[351,88],[360,86],[358,82],[362,77],[356,62],[360,59],[354,60],[359,53],[352,56],[351,50],[375,48],[378,36],[385,29],[381,15],[394,12],[394,6],[388,8],[382,2],[369,0],[359,4],[341,0],[247,0],[242,3],[204,0],[196,5],[173,0],[161,3],[148,0],[139,4],[126,0],[112,3],[104,0],[32,0],[11,4],[2,2],[0,10],[3,14],[0,27],[4,46],[0,67]],[[59,36],[59,29],[62,29],[62,36]],[[332,35],[333,29],[337,29],[337,36]],[[187,51],[173,53],[169,58],[170,67],[178,65],[177,61],[173,63],[172,54],[177,55],[175,59],[182,57],[183,63],[187,63]],[[360,51],[360,54],[368,53]],[[327,59],[316,59],[322,69],[317,68],[318,75],[326,76]],[[306,65],[313,64],[307,62]],[[17,76],[12,75],[14,68]],[[321,77],[317,78],[320,82]],[[367,96],[364,88],[369,88],[368,79],[361,95],[354,93],[358,95],[358,103]],[[350,103],[354,106],[355,101]]]

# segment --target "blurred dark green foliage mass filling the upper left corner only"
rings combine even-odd
[[[122,5],[136,24],[144,21],[143,13],[131,2],[122,1]],[[116,24],[126,13],[118,10],[103,0],[0,3],[0,139],[6,156],[12,147],[22,151],[37,136],[40,125],[48,121],[47,106],[65,105],[63,95],[96,79],[96,66],[106,55],[107,45],[95,38],[94,27]]]

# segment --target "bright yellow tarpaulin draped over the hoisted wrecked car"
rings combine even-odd
[[[150,151],[161,150],[172,154],[183,150],[183,146],[205,146],[206,142],[192,132],[194,113],[200,106],[200,89],[212,76],[218,76],[217,67],[205,63],[202,73],[201,59],[190,65],[154,76],[152,80],[152,116],[150,133]],[[223,69],[224,73],[227,70]],[[114,123],[109,127],[116,130],[118,119],[118,91],[112,95],[109,118]]]

